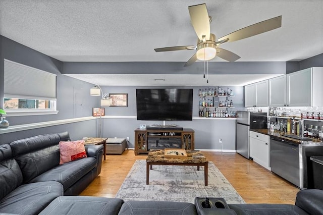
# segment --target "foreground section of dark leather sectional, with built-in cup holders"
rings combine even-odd
[[[220,202],[220,204],[218,204]],[[323,190],[301,190],[292,204],[227,204],[222,198],[210,198],[210,207],[171,201],[126,201],[92,196],[60,196],[40,214],[323,214]]]

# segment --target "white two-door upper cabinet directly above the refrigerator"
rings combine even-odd
[[[268,80],[244,87],[244,106],[268,106]]]

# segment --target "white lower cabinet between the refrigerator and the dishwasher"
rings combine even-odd
[[[249,150],[253,161],[267,170],[270,168],[270,137],[258,132],[249,132]]]

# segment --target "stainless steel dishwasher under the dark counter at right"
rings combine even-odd
[[[302,141],[300,144],[271,136],[271,171],[299,188],[310,187],[312,180],[308,174],[308,168],[311,168],[310,157],[320,154],[323,155],[322,143]]]

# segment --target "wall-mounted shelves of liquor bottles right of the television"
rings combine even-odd
[[[232,118],[236,117],[236,112],[228,109],[234,108],[231,97],[234,97],[232,89],[222,89],[221,87],[205,88],[199,90],[199,117],[206,118]],[[219,98],[214,99],[214,98]],[[221,98],[225,98],[222,100]],[[216,104],[219,103],[219,104]]]

